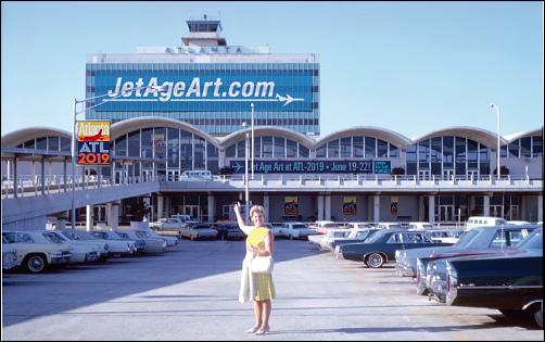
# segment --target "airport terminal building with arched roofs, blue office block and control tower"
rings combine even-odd
[[[320,136],[317,55],[227,46],[218,21],[188,26],[181,47],[88,56],[86,96],[96,99],[86,118],[112,122],[112,164],[78,166],[76,199],[72,132],[2,136],[4,227],[67,217],[71,201],[88,224],[177,213],[229,219],[246,181],[270,221],[543,220],[543,127],[500,137],[499,178],[497,134],[478,127],[407,138],[358,126]],[[213,178],[182,177],[189,170]],[[35,210],[23,215],[23,206]]]

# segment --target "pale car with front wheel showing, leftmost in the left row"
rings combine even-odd
[[[69,245],[64,243],[41,243],[29,231],[2,231],[9,244],[17,251],[17,266],[33,274],[39,274],[51,265],[67,264],[71,257]]]

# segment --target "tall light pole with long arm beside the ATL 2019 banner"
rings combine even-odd
[[[165,92],[168,90],[167,87],[165,87],[165,86],[138,87],[135,90],[140,90],[140,89],[153,89],[156,92]],[[116,94],[115,97],[112,97],[111,100],[121,98],[122,96],[126,96],[126,94],[127,94],[127,92],[122,90],[118,94]],[[102,102],[99,102],[94,105],[91,105],[90,107],[85,107],[85,104],[88,101],[94,100],[94,99],[101,99],[101,98],[104,98],[107,96],[110,96],[110,94],[103,93],[103,94],[87,98],[84,100],[74,99],[74,101],[72,102],[72,229],[76,229],[76,191],[75,191],[76,190],[76,188],[75,188],[76,187],[76,134],[77,134],[76,132],[76,116],[78,114],[85,113],[89,110],[92,110],[93,107],[97,107],[99,105],[106,103],[106,101],[102,101]],[[84,109],[78,112],[77,105],[79,103],[84,103]]]

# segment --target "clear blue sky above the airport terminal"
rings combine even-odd
[[[88,53],[180,46],[220,18],[228,45],[318,53],[321,135],[357,125],[417,138],[543,126],[542,2],[10,2],[1,11],[2,135],[72,129]]]

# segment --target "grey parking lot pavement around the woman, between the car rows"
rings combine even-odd
[[[183,240],[167,253],[43,275],[4,273],[2,340],[540,340],[532,321],[416,295],[393,266],[363,268],[278,240],[270,334],[238,302],[243,241]]]

